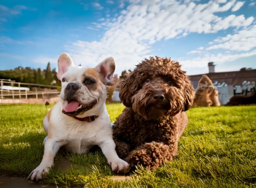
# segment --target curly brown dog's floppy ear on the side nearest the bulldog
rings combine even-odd
[[[126,107],[131,107],[131,97],[137,91],[138,83],[135,82],[134,72],[130,73],[129,76],[122,82],[120,82],[119,98]]]

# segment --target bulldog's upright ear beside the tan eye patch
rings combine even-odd
[[[103,82],[104,82],[105,85],[112,82],[113,73],[114,73],[115,68],[116,68],[115,60],[114,60],[113,57],[109,57],[109,58],[103,60],[95,68],[97,69],[97,71],[102,76]]]

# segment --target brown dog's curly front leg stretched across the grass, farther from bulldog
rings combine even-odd
[[[125,159],[131,167],[142,165],[147,169],[156,169],[165,161],[171,161],[177,155],[178,141],[170,146],[162,142],[145,143],[133,150]]]

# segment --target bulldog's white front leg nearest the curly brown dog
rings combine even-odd
[[[106,140],[106,142],[100,144],[99,147],[101,148],[102,153],[107,158],[107,162],[114,172],[126,173],[130,171],[129,164],[118,157],[115,150],[116,145],[114,140]]]

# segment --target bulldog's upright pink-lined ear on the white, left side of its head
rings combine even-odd
[[[74,63],[71,57],[67,53],[60,54],[58,59],[58,73],[57,73],[57,77],[59,80],[61,79],[62,74],[64,74],[68,70],[69,66],[74,66]]]

